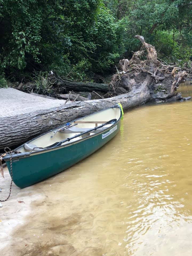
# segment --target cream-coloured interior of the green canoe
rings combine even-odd
[[[117,108],[108,108],[106,110],[102,110],[102,111],[99,111],[95,114],[88,115],[86,117],[79,118],[75,121],[70,122],[71,128],[58,131],[62,127],[65,127],[65,124],[63,124],[62,126],[59,126],[56,129],[51,130],[51,131],[49,131],[49,132],[47,132],[47,133],[45,133],[45,134],[43,134],[43,135],[41,135],[41,136],[39,136],[35,139],[32,139],[31,141],[29,141],[27,143],[33,144],[37,147],[47,147],[47,146],[50,146],[50,145],[54,144],[55,142],[60,142],[60,141],[65,140],[67,138],[73,137],[74,135],[80,134],[83,131],[89,130],[89,129],[94,128],[96,126],[100,126],[100,125],[110,121],[111,119],[117,119],[118,120],[120,117],[121,117],[121,110],[118,107]],[[75,124],[75,126],[73,126],[74,124]],[[112,126],[112,124],[108,124],[108,125],[103,126],[101,129],[98,129],[98,130],[95,130],[93,132],[81,135],[77,138],[71,139],[70,143],[77,142],[77,141],[80,141],[81,139],[83,139],[85,137],[95,135],[99,132],[103,132],[106,129],[109,129],[109,127],[111,127],[111,126]],[[68,141],[64,142],[62,144],[62,146],[65,146],[67,144],[69,144]],[[24,145],[18,147],[17,150],[22,152],[22,153],[30,151],[30,150],[27,150],[24,147]]]

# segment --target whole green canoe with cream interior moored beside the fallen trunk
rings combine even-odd
[[[88,157],[120,129],[119,105],[63,124],[18,147],[12,155],[13,182],[20,188],[47,179]],[[3,160],[10,170],[10,154]]]

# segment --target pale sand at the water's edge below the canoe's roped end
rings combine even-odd
[[[0,177],[0,198],[4,200],[9,194],[11,178],[7,168],[4,168],[4,176]],[[14,183],[11,196],[6,202],[1,202],[0,208],[0,251],[1,255],[15,255],[9,253],[9,246],[13,243],[13,231],[18,229],[25,222],[25,217],[30,215],[31,202],[41,200],[43,195],[37,187],[20,189]],[[22,202],[22,203],[19,203]],[[7,250],[8,249],[8,250]]]

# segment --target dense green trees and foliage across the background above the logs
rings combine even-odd
[[[138,50],[136,34],[190,66],[191,14],[189,0],[0,0],[0,83],[40,70],[76,80],[109,72]]]

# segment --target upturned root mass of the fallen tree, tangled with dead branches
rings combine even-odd
[[[164,101],[167,99],[184,99],[181,94],[175,93],[179,84],[187,76],[186,71],[181,71],[176,65],[168,65],[157,59],[155,48],[146,43],[142,36],[135,36],[142,42],[141,51],[133,54],[133,57],[122,59],[119,62],[121,71],[113,75],[110,88],[111,94],[134,91],[139,87],[147,87],[150,90],[151,101]],[[147,52],[144,58],[145,50]]]

